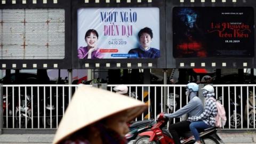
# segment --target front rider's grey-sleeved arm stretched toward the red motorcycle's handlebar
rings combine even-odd
[[[167,118],[174,118],[174,117],[181,117],[184,114],[189,113],[191,110],[195,109],[195,106],[197,105],[197,102],[195,99],[192,99],[188,102],[188,104],[181,109],[175,111],[172,114],[164,114],[164,117]]]

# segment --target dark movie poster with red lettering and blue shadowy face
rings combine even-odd
[[[174,7],[175,58],[254,56],[252,7]]]

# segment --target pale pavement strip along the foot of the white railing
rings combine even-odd
[[[256,143],[256,131],[220,131],[218,133],[226,144]],[[54,134],[1,134],[1,144],[48,144],[52,143]]]

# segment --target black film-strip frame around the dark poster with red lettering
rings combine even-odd
[[[213,7],[237,7],[239,9],[239,7],[246,7],[246,6],[253,7],[253,9],[255,11],[256,3],[255,3],[255,1],[250,1],[250,0],[249,1],[245,1],[245,0],[179,0],[179,2],[178,1],[170,1],[169,3],[166,1],[166,31],[171,32],[171,35],[167,35],[166,39],[174,39],[174,36],[175,36],[174,35],[175,29],[173,28],[174,27],[173,19],[175,17],[172,14],[173,11],[170,11],[170,10],[173,10],[176,7],[181,7],[181,9],[182,9],[182,7],[205,7],[205,8],[206,7],[210,7],[210,8],[213,8]],[[198,9],[193,9],[193,10],[196,11]],[[234,9],[234,10],[236,10],[236,9]],[[230,10],[227,10],[227,11],[230,11]],[[209,13],[210,13],[210,10],[209,10]],[[253,19],[255,21],[255,12],[252,12],[252,13],[254,14]],[[207,12],[207,14],[208,14],[208,12]],[[209,16],[209,17],[211,17],[211,16]],[[245,17],[247,17],[247,15]],[[253,21],[253,19],[252,19],[252,21]],[[201,20],[202,20],[202,18],[201,18]],[[233,21],[236,21],[236,19],[233,19]],[[244,21],[241,21],[241,22],[244,22]],[[205,23],[204,23],[204,25],[205,25]],[[254,22],[254,25],[255,25],[255,22]],[[178,30],[176,30],[176,32],[177,31]],[[251,35],[252,36],[255,35],[255,29],[252,30]],[[223,38],[223,39],[225,39],[225,38]],[[218,41],[213,41],[213,42],[218,42]],[[173,42],[167,41],[167,43],[166,43],[166,47],[172,47],[172,50],[168,50],[168,49],[166,50],[166,53],[172,53],[169,55],[170,58],[167,57],[167,59],[166,59],[166,67],[167,68],[255,68],[255,64],[256,64],[255,63],[255,61],[256,61],[255,60],[255,50],[254,50],[254,52],[250,53],[250,54],[254,55],[251,57],[250,56],[249,57],[239,57],[239,56],[236,57],[236,55],[229,56],[229,57],[225,57],[225,56],[214,57],[214,56],[212,56],[213,54],[212,55],[210,54],[211,55],[210,57],[195,58],[192,56],[192,57],[186,58],[183,56],[180,57],[180,56],[174,55],[174,46],[175,45],[173,43],[174,43],[174,40],[173,40]],[[253,46],[250,46],[250,49],[254,49],[253,47],[255,47],[255,42],[254,42]],[[241,46],[238,48],[241,48]],[[218,49],[218,50],[220,50],[220,49]],[[229,54],[227,54],[227,55],[229,55]]]

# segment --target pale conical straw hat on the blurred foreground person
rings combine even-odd
[[[58,143],[83,127],[121,111],[127,111],[130,121],[146,108],[145,103],[125,95],[88,85],[79,86],[61,119],[53,143]]]

